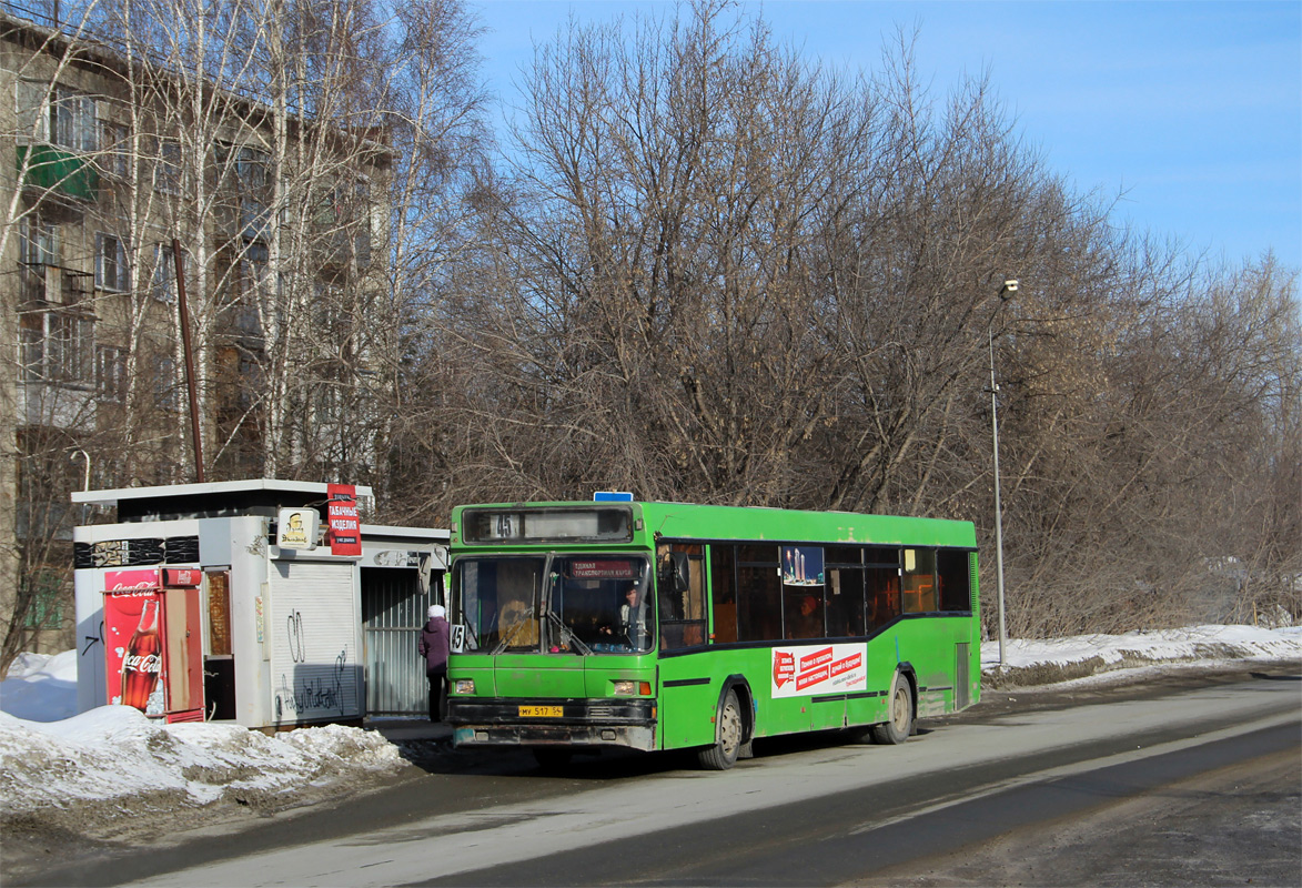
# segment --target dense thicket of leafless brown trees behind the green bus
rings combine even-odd
[[[983,78],[922,90],[906,35],[848,78],[680,12],[536,52],[423,365],[444,503],[616,486],[986,534],[995,361],[1016,631],[1297,612],[1294,279],[1117,229]]]

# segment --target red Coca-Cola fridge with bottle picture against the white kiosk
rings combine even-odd
[[[168,721],[203,720],[198,570],[104,574],[108,702]]]

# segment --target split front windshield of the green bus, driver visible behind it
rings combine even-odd
[[[544,582],[546,577],[546,582]],[[646,652],[650,564],[634,555],[464,557],[453,576],[461,652]]]

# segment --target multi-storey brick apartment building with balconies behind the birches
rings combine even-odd
[[[367,404],[389,156],[374,130],[5,13],[0,94],[8,655],[76,641],[72,527],[95,516],[72,491],[371,458],[340,441]]]

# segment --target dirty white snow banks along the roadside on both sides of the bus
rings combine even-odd
[[[999,645],[983,645],[987,684],[1082,680],[1138,664],[1297,659],[1302,626],[1012,641],[1005,654],[1000,671]],[[332,784],[365,785],[404,767],[398,749],[374,730],[332,725],[268,737],[224,724],[159,724],[124,706],[74,715],[76,697],[74,651],[25,654],[0,682],[0,827],[78,807],[98,811],[98,819],[221,801],[279,809],[286,796],[311,789],[328,797]]]

